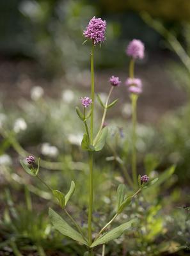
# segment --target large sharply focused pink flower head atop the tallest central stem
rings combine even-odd
[[[83,35],[92,40],[93,44],[99,44],[104,42],[105,40],[105,31],[106,31],[106,20],[102,20],[101,18],[93,17],[86,30],[83,31]]]

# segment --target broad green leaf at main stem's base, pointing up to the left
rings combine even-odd
[[[70,225],[68,225],[68,223],[51,208],[49,208],[49,218],[51,219],[54,228],[56,228],[56,230],[58,230],[61,234],[70,237],[71,239],[78,241],[82,244],[88,245],[81,236],[81,234],[77,232],[74,228],[70,227]]]

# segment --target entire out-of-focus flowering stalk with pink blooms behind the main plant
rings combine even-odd
[[[132,179],[134,186],[138,186],[138,173],[137,173],[137,160],[136,160],[136,123],[137,123],[137,100],[139,94],[142,92],[141,80],[134,77],[134,63],[137,58],[143,59],[145,47],[140,40],[132,40],[127,46],[127,55],[131,56],[129,63],[129,78],[126,81],[126,85],[129,86],[129,92],[131,93],[132,104]]]

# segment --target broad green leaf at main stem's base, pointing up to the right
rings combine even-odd
[[[114,240],[116,238],[118,238],[119,236],[121,236],[123,234],[123,232],[129,228],[131,228],[131,225],[136,223],[137,219],[134,218],[130,221],[127,221],[125,223],[123,223],[122,225],[113,228],[112,230],[106,232],[106,234],[104,234],[103,236],[100,236],[96,241],[94,241],[90,247],[95,247],[99,244],[104,244],[107,243],[111,240]]]

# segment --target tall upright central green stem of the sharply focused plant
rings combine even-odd
[[[91,67],[91,116],[90,116],[90,143],[93,144],[93,106],[94,106],[94,68],[93,68],[93,55],[94,47],[92,44],[90,55],[90,67]],[[88,244],[91,245],[91,220],[92,220],[92,208],[93,208],[93,152],[89,152],[89,204],[88,204]],[[92,249],[89,248],[89,255],[92,255]]]

